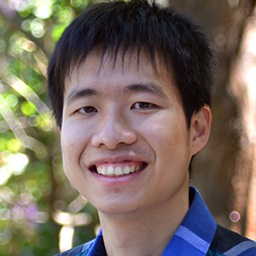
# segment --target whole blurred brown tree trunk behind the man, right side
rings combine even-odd
[[[256,73],[255,1],[169,0],[169,4],[204,28],[218,55],[212,135],[195,160],[192,184],[201,190],[218,223],[256,239],[252,214],[256,211],[256,79],[253,85],[247,79],[248,67],[250,74],[253,68]],[[254,44],[250,51],[248,40]]]

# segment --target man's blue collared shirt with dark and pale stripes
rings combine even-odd
[[[190,207],[162,256],[256,256],[256,243],[218,226],[198,190],[189,189]],[[105,256],[102,230],[96,239],[59,256]]]

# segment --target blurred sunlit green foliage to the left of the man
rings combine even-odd
[[[95,236],[96,210],[62,171],[45,81],[55,42],[89,4],[1,3],[0,256],[53,255],[61,239],[70,236],[75,246]]]

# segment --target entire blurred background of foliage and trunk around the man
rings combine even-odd
[[[98,230],[62,171],[45,80],[61,32],[91,3],[0,2],[0,256],[53,255]],[[200,24],[218,55],[212,136],[191,183],[218,223],[256,240],[256,1],[163,3]]]

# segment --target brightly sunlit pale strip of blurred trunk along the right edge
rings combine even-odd
[[[239,104],[241,150],[233,179],[233,207],[241,212],[244,232],[256,239],[256,14],[247,20],[241,47],[230,73],[230,89]],[[254,171],[254,172],[253,172]],[[248,192],[248,194],[247,194]],[[233,229],[241,230],[235,223]]]

